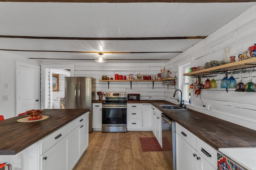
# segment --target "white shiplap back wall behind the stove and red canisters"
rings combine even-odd
[[[129,74],[136,76],[138,73],[143,75],[157,76],[160,68],[164,63],[74,63],[75,76],[91,76],[96,78],[96,91],[106,92],[126,92],[126,93],[140,93],[141,100],[163,100],[164,89],[162,82],[154,82],[154,89],[152,82],[132,82],[132,89],[130,89],[130,82],[110,82],[108,89],[108,82],[99,82],[102,75],[107,75],[109,78],[115,74],[126,75],[128,79]],[[104,99],[104,98],[103,98]],[[96,100],[98,95],[96,94]]]

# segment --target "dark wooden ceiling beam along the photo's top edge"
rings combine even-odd
[[[216,2],[255,2],[255,0],[0,0],[0,2],[76,2],[76,3],[136,3],[136,2],[165,2],[165,3],[216,3]]]

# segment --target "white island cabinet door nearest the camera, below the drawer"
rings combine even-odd
[[[40,156],[41,170],[69,170],[68,135]]]

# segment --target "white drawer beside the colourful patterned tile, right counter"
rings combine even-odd
[[[197,138],[197,152],[212,166],[217,167],[217,151],[199,138]]]

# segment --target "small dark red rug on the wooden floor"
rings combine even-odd
[[[143,152],[162,151],[155,137],[140,137],[140,145]]]

